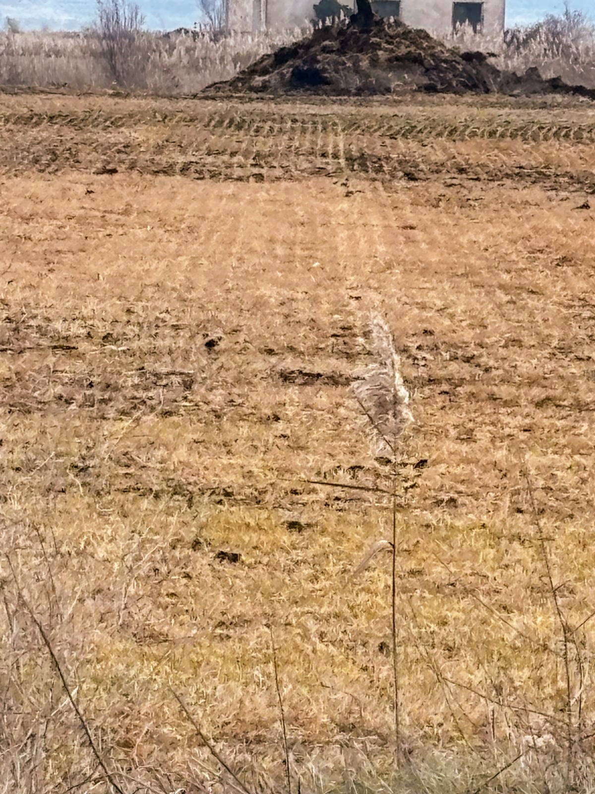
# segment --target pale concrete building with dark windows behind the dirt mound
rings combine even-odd
[[[315,0],[225,0],[227,26],[240,32],[295,25],[314,16]],[[342,0],[351,5],[351,0]],[[395,17],[413,28],[448,33],[470,25],[477,33],[504,33],[506,0],[372,0],[380,17]],[[355,0],[353,0],[355,7]]]

